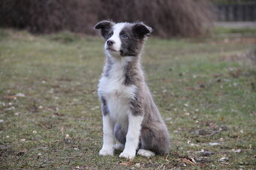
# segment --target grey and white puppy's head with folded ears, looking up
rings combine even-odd
[[[110,55],[136,56],[142,51],[145,39],[151,34],[152,28],[143,22],[102,21],[95,25],[105,39],[105,52]]]

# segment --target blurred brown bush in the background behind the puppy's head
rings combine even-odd
[[[96,34],[102,19],[144,21],[160,37],[194,37],[207,33],[212,7],[205,0],[1,0],[0,26],[32,33],[61,30]]]

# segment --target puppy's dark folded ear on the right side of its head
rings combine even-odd
[[[133,25],[133,32],[136,37],[139,37],[140,39],[148,37],[152,31],[153,29],[148,25],[145,25],[143,22],[137,22]]]

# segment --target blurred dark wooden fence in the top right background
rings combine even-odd
[[[218,21],[256,21],[256,3],[216,4]]]

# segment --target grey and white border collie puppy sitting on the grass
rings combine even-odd
[[[99,155],[133,159],[169,153],[169,132],[143,76],[140,55],[152,28],[143,22],[102,21],[95,25],[105,39],[106,62],[99,80],[103,146]],[[114,145],[114,139],[119,144]]]

